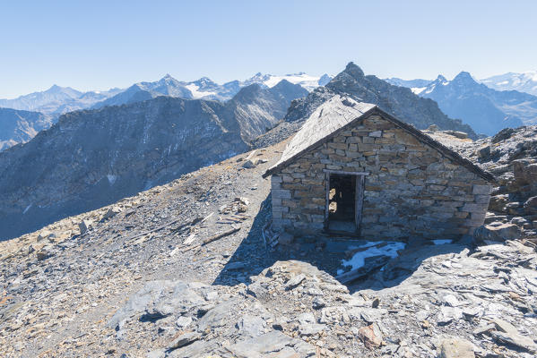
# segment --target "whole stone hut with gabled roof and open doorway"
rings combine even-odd
[[[472,234],[494,181],[410,124],[340,96],[316,109],[268,175],[276,229],[376,239]]]

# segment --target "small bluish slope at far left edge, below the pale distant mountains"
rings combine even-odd
[[[39,112],[0,108],[0,151],[30,141],[39,131],[48,128],[51,121],[48,115]]]

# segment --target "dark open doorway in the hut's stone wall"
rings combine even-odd
[[[356,175],[330,175],[328,229],[356,232]]]

